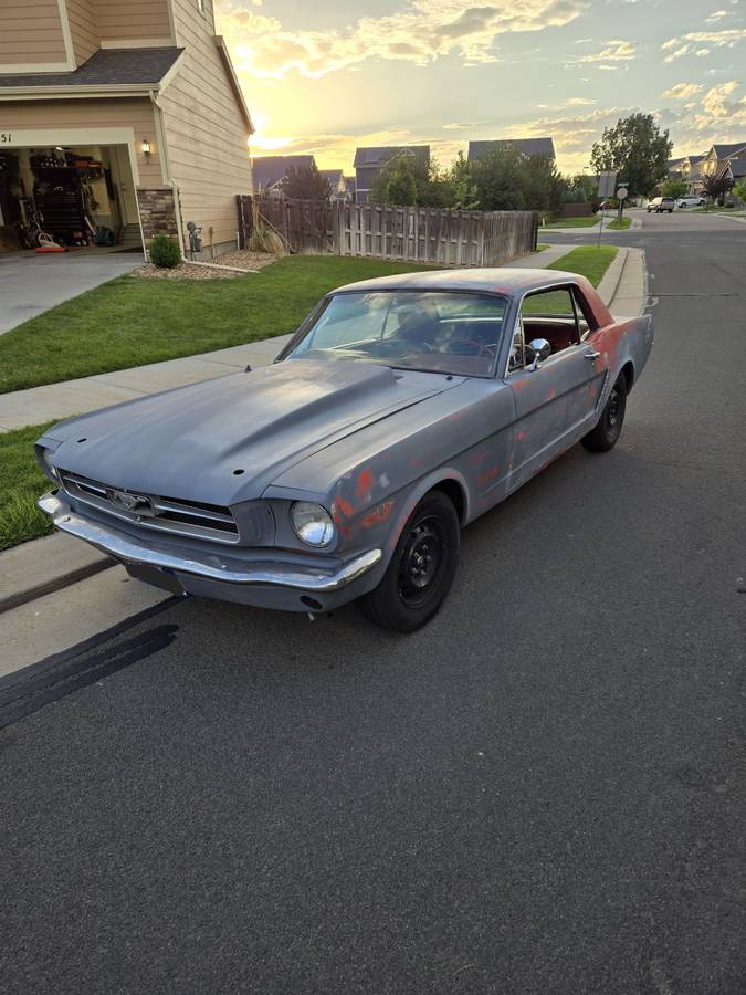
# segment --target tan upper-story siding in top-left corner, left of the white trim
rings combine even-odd
[[[0,0],[0,65],[67,59],[56,0]]]

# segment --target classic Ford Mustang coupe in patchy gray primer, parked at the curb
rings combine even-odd
[[[451,270],[328,294],[273,365],[36,443],[55,525],[167,590],[412,631],[460,530],[581,441],[619,438],[652,345],[587,280]]]

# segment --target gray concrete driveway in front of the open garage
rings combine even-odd
[[[0,335],[63,301],[143,265],[138,252],[78,252],[0,255]]]

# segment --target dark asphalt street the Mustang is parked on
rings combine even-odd
[[[620,442],[424,630],[172,600],[0,685],[3,992],[746,992],[746,226],[643,223]]]

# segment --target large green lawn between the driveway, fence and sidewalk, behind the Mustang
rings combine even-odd
[[[283,335],[335,286],[422,269],[293,255],[235,280],[120,276],[0,336],[0,394]]]

